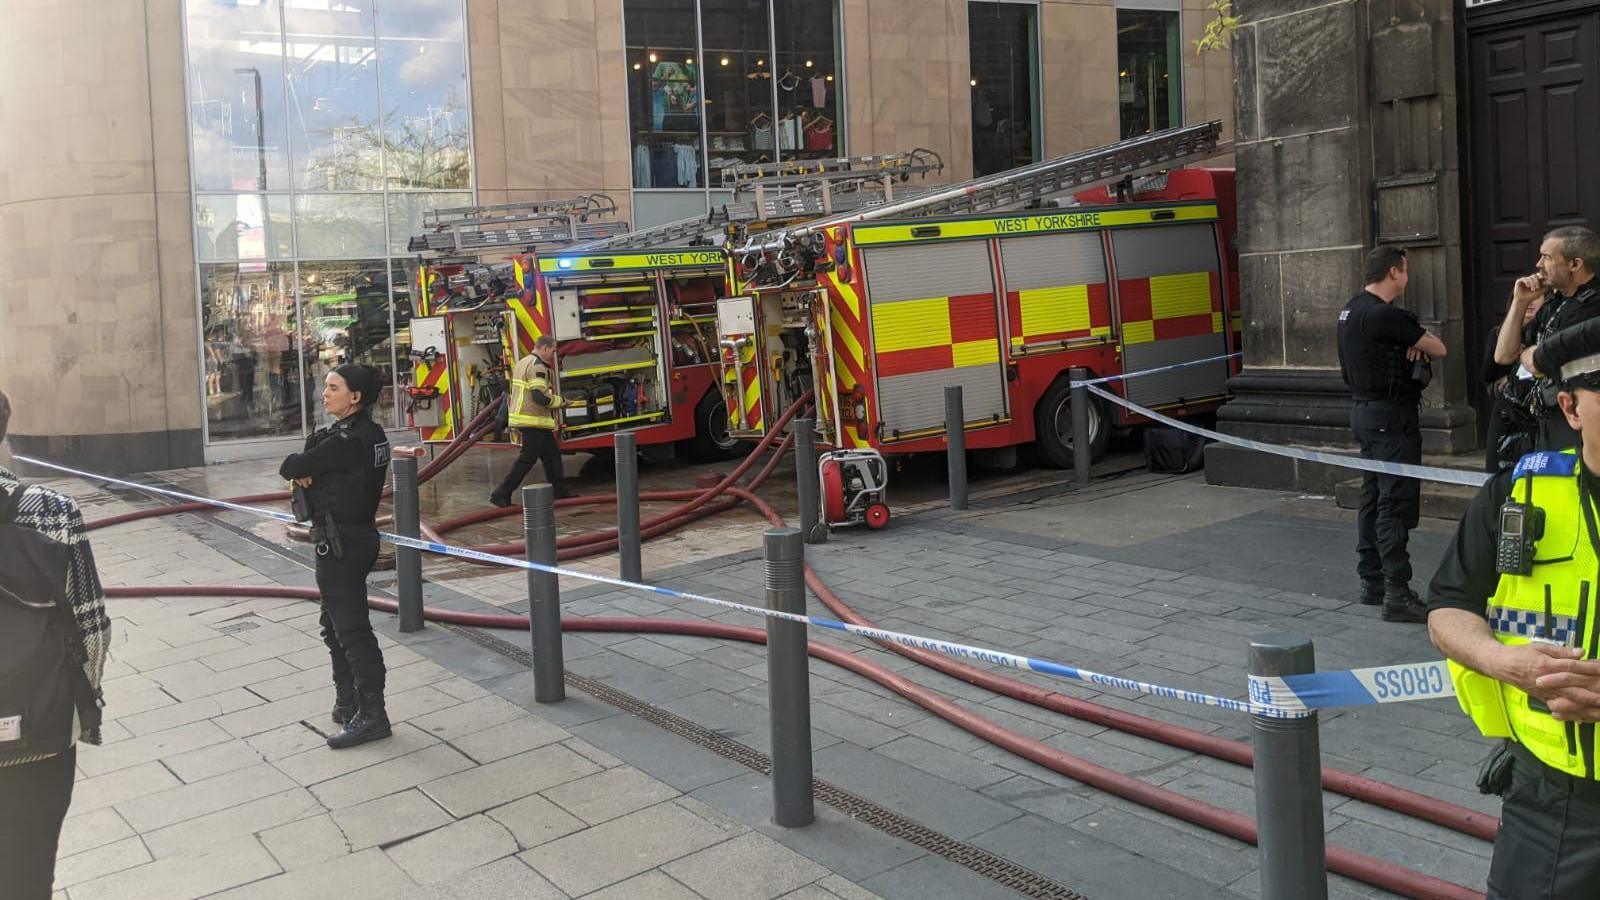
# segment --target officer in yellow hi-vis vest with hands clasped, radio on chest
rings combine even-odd
[[[1600,328],[1579,328],[1536,359],[1579,447],[1483,485],[1429,585],[1458,700],[1504,738],[1478,777],[1504,801],[1491,900],[1600,897]]]

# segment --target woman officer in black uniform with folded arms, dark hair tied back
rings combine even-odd
[[[328,738],[333,749],[389,737],[384,655],[366,615],[366,575],[378,560],[374,519],[389,469],[389,439],[371,416],[379,391],[378,373],[365,365],[330,372],[322,405],[334,423],[278,468],[310,500],[322,641],[333,658],[333,721],[344,725]]]

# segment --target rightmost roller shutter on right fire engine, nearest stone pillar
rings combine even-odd
[[[1122,311],[1123,370],[1142,372],[1227,352],[1216,226],[1181,224],[1112,232]],[[1128,399],[1146,407],[1218,397],[1227,362],[1130,378]]]

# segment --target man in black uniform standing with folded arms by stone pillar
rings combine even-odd
[[[1339,372],[1350,388],[1350,431],[1362,456],[1390,463],[1422,461],[1418,402],[1427,360],[1445,356],[1416,314],[1395,306],[1405,293],[1406,256],[1400,247],[1366,255],[1366,287],[1339,312]],[[1410,530],[1421,511],[1416,479],[1365,472],[1357,517],[1355,570],[1362,602],[1382,604],[1384,621],[1422,621],[1422,601],[1411,589]]]

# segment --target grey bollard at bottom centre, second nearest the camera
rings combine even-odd
[[[805,615],[805,540],[800,528],[765,535],[766,609]],[[811,673],[805,625],[766,620],[766,705],[773,730],[773,823],[811,825]]]

